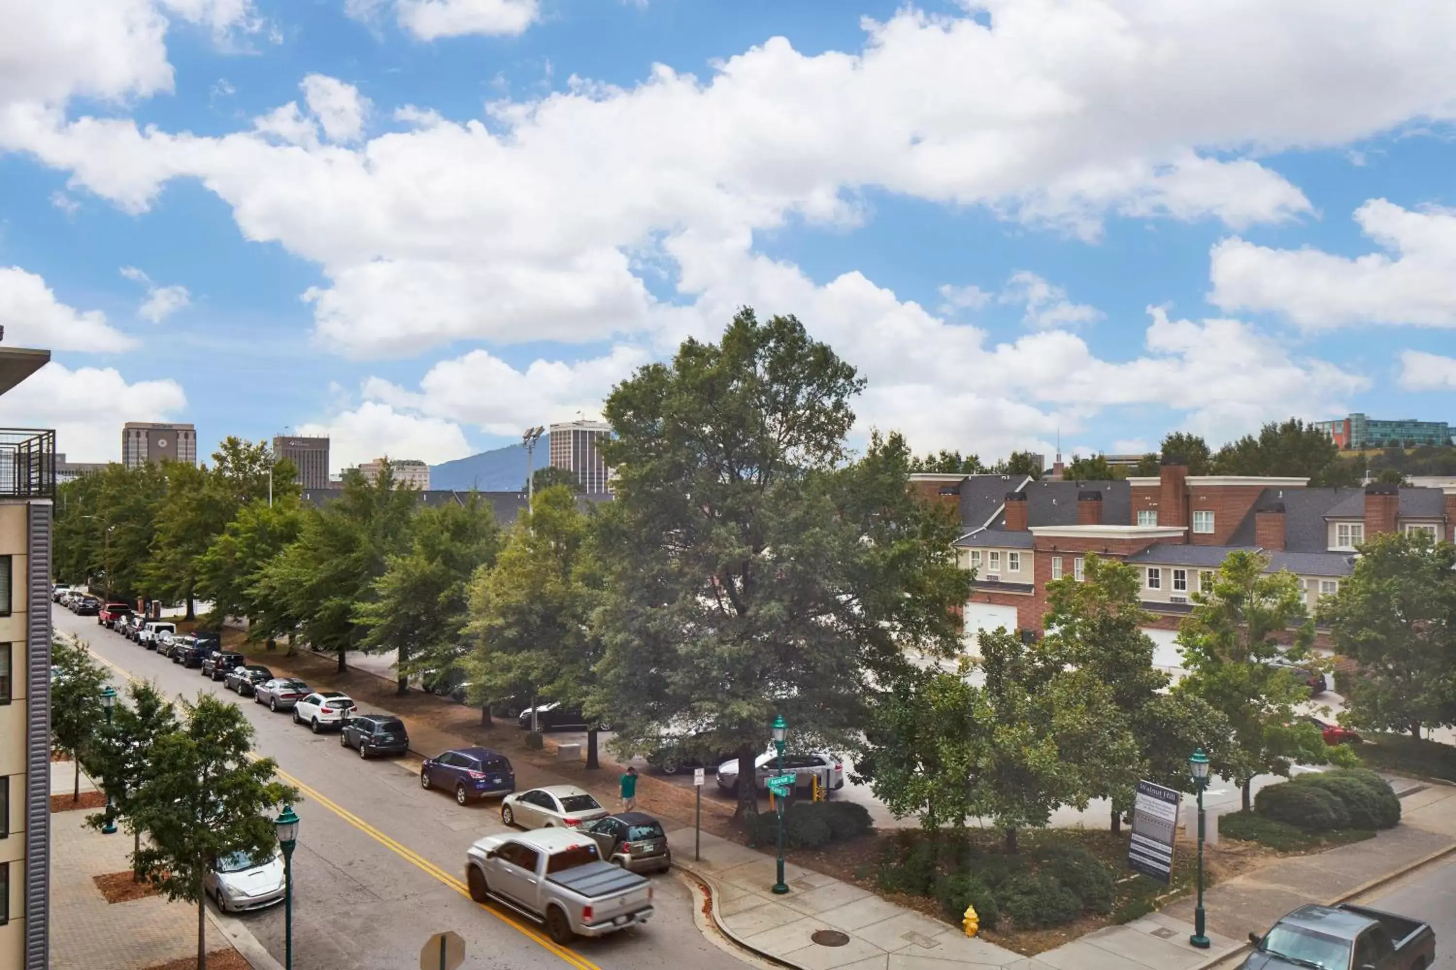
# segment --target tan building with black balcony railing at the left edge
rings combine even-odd
[[[0,348],[0,394],[50,361]],[[0,967],[50,963],[55,432],[0,429]]]

